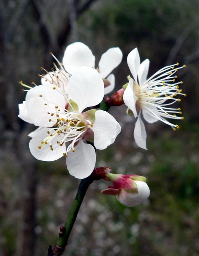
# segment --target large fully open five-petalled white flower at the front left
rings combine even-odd
[[[81,67],[71,76],[66,96],[54,84],[30,89],[26,95],[26,110],[30,120],[43,128],[30,140],[30,151],[39,160],[54,161],[66,156],[67,168],[76,178],[89,176],[96,163],[97,149],[114,142],[121,127],[107,112],[88,110],[103,98],[103,80],[89,67]],[[70,98],[70,101],[68,100]]]

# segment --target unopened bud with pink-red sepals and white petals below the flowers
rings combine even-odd
[[[137,206],[149,197],[150,190],[143,176],[112,173],[106,176],[113,186],[101,190],[101,193],[116,195],[117,200],[125,206]]]

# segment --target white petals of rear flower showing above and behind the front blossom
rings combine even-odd
[[[111,92],[115,87],[115,76],[110,73],[120,64],[121,59],[121,50],[118,47],[114,47],[103,53],[99,60],[99,74],[109,84],[104,88],[104,94]],[[75,42],[66,48],[63,66],[69,74],[73,74],[81,66],[95,68],[95,56],[88,46],[81,42]]]

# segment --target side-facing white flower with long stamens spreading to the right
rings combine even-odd
[[[129,53],[127,63],[133,79],[129,80],[124,91],[123,101],[134,116],[138,116],[134,129],[135,142],[139,147],[147,149],[146,130],[141,120],[141,113],[147,122],[153,123],[160,120],[170,125],[174,130],[179,126],[165,118],[184,119],[176,115],[182,114],[180,108],[170,107],[171,104],[180,101],[179,98],[175,98],[177,95],[186,96],[186,94],[181,93],[182,90],[179,90],[179,84],[182,82],[175,82],[177,78],[175,73],[183,66],[177,67],[179,63],[166,66],[147,79],[149,60],[146,59],[140,64],[137,48]]]

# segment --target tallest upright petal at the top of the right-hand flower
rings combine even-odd
[[[137,73],[140,64],[139,52],[137,48],[129,53],[129,55],[127,56],[127,63],[135,82],[137,82]]]

